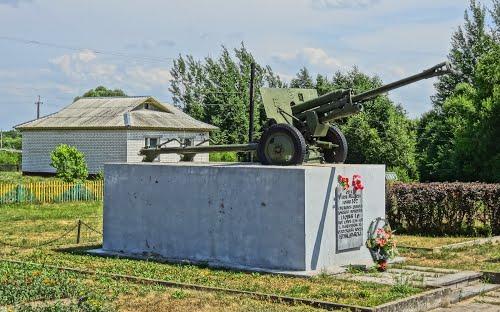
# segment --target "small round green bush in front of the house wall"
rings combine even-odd
[[[66,182],[85,180],[88,176],[83,153],[76,147],[60,144],[50,154],[50,165],[56,168],[57,176]]]

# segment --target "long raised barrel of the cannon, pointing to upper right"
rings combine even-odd
[[[391,90],[400,88],[402,86],[406,86],[410,83],[414,83],[414,82],[419,81],[419,80],[428,79],[428,78],[432,78],[432,77],[436,77],[436,76],[442,76],[442,75],[448,74],[450,72],[451,72],[450,63],[442,62],[442,63],[439,63],[439,64],[437,64],[429,69],[424,70],[423,72],[421,72],[419,74],[416,74],[416,75],[413,75],[410,77],[406,77],[406,78],[403,78],[401,80],[398,80],[398,81],[386,84],[384,86],[381,86],[379,88],[354,95],[352,97],[352,102],[356,103],[356,102],[366,101],[366,100],[369,100],[371,98],[376,97],[379,94],[389,92]]]

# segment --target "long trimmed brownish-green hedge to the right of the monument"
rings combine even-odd
[[[386,214],[399,233],[499,235],[500,184],[387,182]]]

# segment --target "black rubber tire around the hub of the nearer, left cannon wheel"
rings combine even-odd
[[[292,158],[284,163],[273,163],[271,159],[266,157],[266,142],[270,136],[280,132],[287,135],[291,139],[294,153]],[[300,165],[306,158],[306,147],[304,136],[302,136],[297,128],[289,124],[275,124],[270,126],[269,129],[267,129],[260,137],[259,145],[257,146],[257,157],[259,157],[259,160],[263,165]]]

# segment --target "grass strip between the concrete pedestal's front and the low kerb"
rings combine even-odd
[[[99,247],[99,246],[95,246]],[[214,270],[194,265],[173,265],[150,261],[100,258],[85,254],[85,248],[61,253],[37,250],[12,254],[11,257],[57,266],[90,269],[101,273],[126,274],[162,279],[179,283],[263,292],[283,296],[317,299],[336,303],[376,306],[422,292],[376,283],[339,280],[330,276],[290,278],[280,275],[251,274],[228,270]]]

